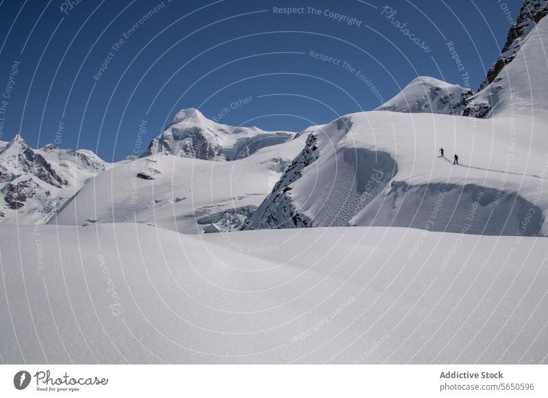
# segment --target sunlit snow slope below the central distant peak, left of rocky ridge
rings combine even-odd
[[[51,223],[142,222],[181,233],[242,226],[306,136],[231,162],[166,153],[126,161],[93,179]]]

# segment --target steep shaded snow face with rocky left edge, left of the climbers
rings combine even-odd
[[[340,124],[345,128],[351,126],[350,120]],[[321,132],[309,135],[306,148],[244,229],[348,226],[354,215],[364,209],[397,172],[394,160],[386,152],[345,148],[342,161],[336,165],[327,163],[327,168],[334,169],[333,174],[327,175],[318,134]],[[304,172],[308,172],[305,178],[308,186],[312,186],[306,199],[292,192],[294,183],[297,189],[303,189],[296,182]]]

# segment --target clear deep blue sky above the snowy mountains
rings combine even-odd
[[[19,64],[0,140],[21,133],[35,147],[55,142],[108,161],[138,150],[146,124],[144,150],[186,107],[208,118],[221,113],[225,124],[299,131],[373,109],[418,75],[464,85],[467,73],[475,89],[521,6],[520,0],[69,3],[1,1],[0,90]],[[288,7],[299,10],[279,11]],[[244,98],[250,100],[237,103]]]

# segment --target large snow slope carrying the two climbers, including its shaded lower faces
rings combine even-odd
[[[547,235],[545,125],[530,126],[532,146],[512,122],[380,111],[343,116],[308,136],[245,228]],[[445,158],[437,157],[440,146]],[[451,165],[453,152],[460,165]]]

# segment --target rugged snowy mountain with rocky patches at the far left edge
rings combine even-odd
[[[0,144],[0,222],[43,224],[90,178],[110,167],[90,150]]]

